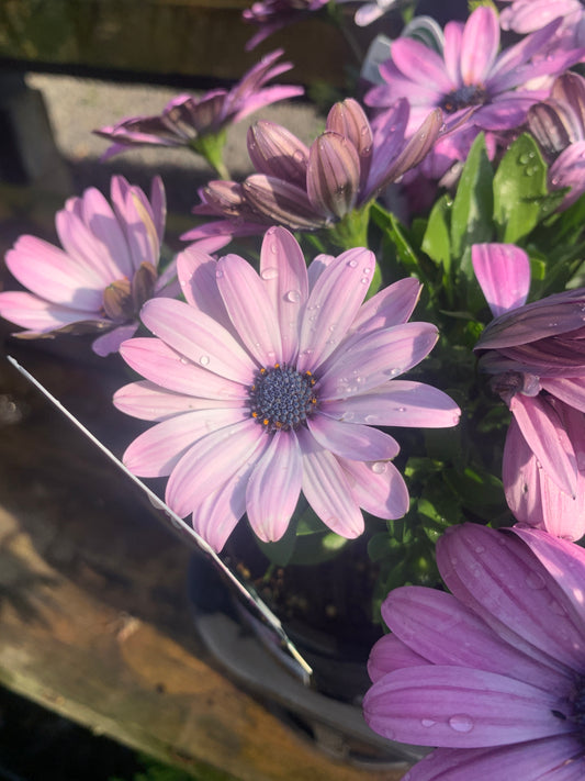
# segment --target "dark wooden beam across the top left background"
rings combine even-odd
[[[241,21],[251,0],[2,0],[0,65],[89,67],[164,76],[238,79],[258,57],[279,46],[295,64],[281,80],[346,81],[350,52],[342,35],[318,19],[271,35],[255,52],[245,45],[257,31]],[[370,40],[361,31],[358,38]]]

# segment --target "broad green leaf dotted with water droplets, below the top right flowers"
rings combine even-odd
[[[527,133],[510,146],[494,177],[494,220],[498,239],[514,244],[538,224],[547,196],[547,165]]]

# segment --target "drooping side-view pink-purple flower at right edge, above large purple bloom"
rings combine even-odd
[[[585,532],[585,290],[526,304],[530,266],[514,245],[472,247],[495,319],[475,350],[514,422],[504,488],[519,521],[578,539]]]

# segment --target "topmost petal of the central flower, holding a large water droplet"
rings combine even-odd
[[[260,278],[277,313],[282,361],[291,365],[299,353],[300,320],[308,298],[308,275],[299,242],[283,227],[269,227],[265,234]]]

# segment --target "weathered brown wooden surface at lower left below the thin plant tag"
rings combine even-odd
[[[87,369],[55,366],[91,406]],[[1,683],[209,779],[402,776],[330,759],[216,669],[185,598],[190,551],[3,360],[0,427]]]

